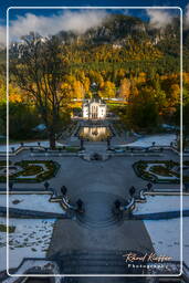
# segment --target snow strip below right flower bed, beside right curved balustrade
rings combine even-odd
[[[134,214],[156,213],[180,210],[179,196],[147,196],[146,202],[136,202]],[[189,210],[189,196],[185,197],[183,210]]]

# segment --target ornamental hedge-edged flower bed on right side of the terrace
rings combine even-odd
[[[183,165],[189,166],[188,161]],[[138,177],[148,181],[180,182],[179,163],[172,160],[139,160],[133,167]],[[189,181],[189,176],[183,176],[183,181]]]

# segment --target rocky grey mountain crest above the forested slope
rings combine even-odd
[[[137,42],[149,40],[151,44],[157,44],[164,40],[179,40],[179,20],[175,18],[172,23],[165,29],[155,29],[148,22],[136,17],[111,14],[104,20],[102,25],[92,28],[84,34],[63,31],[59,33],[59,36],[64,43],[73,43],[76,40],[91,44],[122,44],[127,39],[133,38]]]

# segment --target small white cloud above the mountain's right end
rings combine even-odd
[[[172,14],[161,9],[148,9],[149,23],[153,28],[165,28],[172,22]]]

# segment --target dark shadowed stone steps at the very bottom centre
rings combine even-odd
[[[125,254],[125,251],[72,251],[70,253],[59,254],[57,264],[60,266],[61,274],[134,274],[134,270],[128,268],[125,263],[123,254]],[[135,274],[137,274],[137,272],[141,274],[143,270],[136,270]],[[129,277],[129,281],[126,281],[125,277],[116,277],[117,281],[112,281],[111,277],[111,280],[108,279],[108,281],[102,282],[146,282],[145,277],[139,277],[139,281],[136,281],[136,279],[137,277]],[[75,282],[91,282],[83,277],[76,280],[78,281]]]

